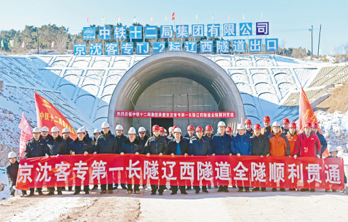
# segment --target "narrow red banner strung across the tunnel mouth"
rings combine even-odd
[[[139,117],[139,118],[235,118],[235,112],[116,111],[116,117]]]

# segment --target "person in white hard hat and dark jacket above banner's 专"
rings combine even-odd
[[[77,130],[77,139],[72,142],[69,153],[71,155],[77,155],[77,154],[83,154],[83,155],[88,155],[90,153],[93,153],[93,146],[92,144],[88,141],[88,139],[85,137],[86,131],[84,128],[79,128]],[[86,174],[85,180],[89,180],[88,175]],[[75,178],[75,180],[79,180],[79,178]],[[81,180],[81,183],[83,181]],[[81,192],[81,186],[75,186],[75,191],[74,195],[80,194]],[[85,194],[89,194],[89,186],[86,185],[84,186],[84,192]]]

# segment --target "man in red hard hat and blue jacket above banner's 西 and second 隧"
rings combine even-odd
[[[210,146],[209,139],[203,136],[203,128],[197,126],[196,136],[191,137],[189,146],[189,155],[212,155],[212,146]],[[196,194],[199,194],[200,187],[193,186]],[[207,194],[207,180],[202,180],[202,191]]]

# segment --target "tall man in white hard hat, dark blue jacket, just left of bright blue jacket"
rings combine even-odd
[[[232,155],[231,141],[232,137],[226,132],[226,124],[223,121],[218,123],[218,133],[216,133],[210,144],[212,145],[212,155]],[[219,186],[218,192],[228,192],[228,186]]]

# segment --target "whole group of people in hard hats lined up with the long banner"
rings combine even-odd
[[[217,133],[214,134],[212,126],[201,126],[194,128],[192,125],[187,127],[187,135],[182,136],[182,130],[173,126],[168,131],[157,125],[152,126],[152,135],[148,137],[146,130],[142,126],[136,134],[134,127],[129,128],[127,136],[123,134],[123,127],[116,126],[116,135],[111,134],[109,123],[102,123],[102,130],[95,129],[93,138],[88,135],[88,129],[81,127],[77,130],[77,139],[69,137],[68,128],[62,130],[62,137],[59,135],[59,129],[53,127],[51,135],[49,128],[46,126],[41,129],[33,128],[33,138],[26,143],[24,158],[43,157],[52,155],[77,155],[77,154],[98,154],[98,153],[134,153],[136,155],[258,155],[260,157],[271,156],[288,156],[288,157],[322,157],[326,150],[327,144],[323,135],[318,132],[317,123],[306,123],[303,132],[296,129],[296,123],[290,123],[289,119],[283,119],[282,125],[277,121],[271,124],[271,119],[266,116],[263,119],[264,128],[260,124],[252,125],[250,119],[237,124],[237,135],[234,136],[232,128],[226,127],[226,123],[220,121],[217,126]],[[330,157],[337,157],[337,148],[330,148]],[[11,195],[15,194],[15,185],[17,181],[17,171],[19,162],[14,152],[8,154],[10,163],[6,167],[10,183]],[[146,185],[143,185],[145,187]],[[113,194],[113,189],[118,189],[118,184],[103,184],[100,186],[100,194]],[[140,194],[140,185],[122,184],[122,189],[127,189],[127,194]],[[216,186],[218,192],[228,192],[228,186]],[[208,193],[207,189],[211,186],[203,185],[202,191]],[[249,192],[249,187],[238,187],[238,191],[245,190]],[[92,190],[96,190],[97,185]],[[151,195],[163,195],[165,185],[151,185]],[[187,194],[191,186],[172,186],[171,194]],[[193,187],[196,194],[199,194],[200,187]],[[57,187],[58,195],[62,194],[65,187]],[[72,191],[72,187],[68,187]],[[290,189],[292,190],[292,189]],[[34,195],[34,188],[30,189],[29,196]],[[42,187],[36,187],[39,195],[42,195]],[[55,187],[49,187],[47,195],[54,195]],[[84,186],[84,193],[89,194],[89,186]],[[260,191],[259,187],[253,188],[252,191]],[[267,191],[262,187],[261,191]],[[276,191],[273,188],[272,191]],[[280,191],[285,191],[280,188]],[[306,189],[301,189],[306,191]],[[315,191],[310,189],[310,191]],[[329,191],[329,190],[326,190]],[[80,194],[81,186],[76,186],[74,195]],[[26,196],[26,191],[22,191]]]

